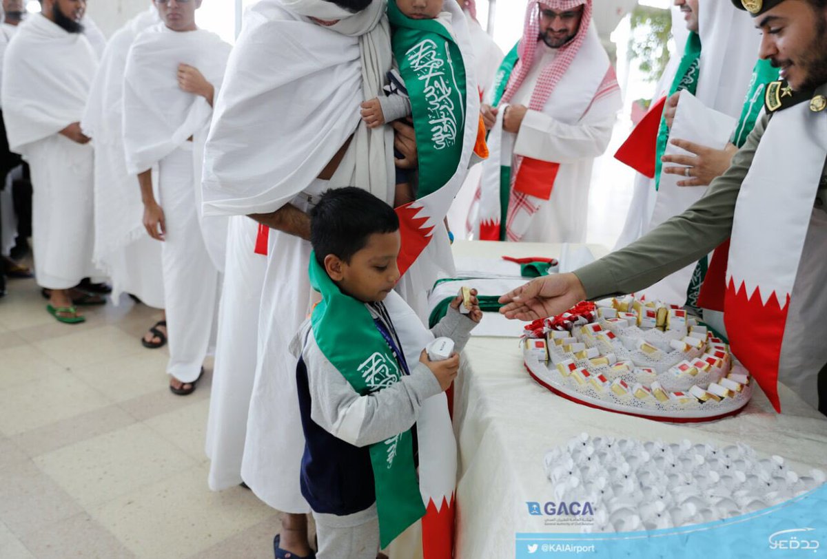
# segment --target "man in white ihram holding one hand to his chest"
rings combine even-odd
[[[203,373],[227,240],[226,220],[201,215],[200,175],[230,45],[198,29],[200,6],[155,0],[162,22],[132,44],[123,90],[127,172],[138,177],[146,232],[163,243],[167,373],[170,391],[180,396],[192,393]]]

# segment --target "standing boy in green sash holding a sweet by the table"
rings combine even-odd
[[[291,345],[306,441],[302,494],[316,520],[318,559],[374,559],[425,512],[412,428],[423,402],[451,386],[482,312],[472,291],[461,315],[457,296],[432,331],[452,338],[457,353],[432,362],[422,349],[427,331],[393,291],[393,209],[348,187],[323,194],[310,216],[310,280],[323,301]]]

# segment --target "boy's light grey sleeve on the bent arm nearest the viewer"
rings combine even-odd
[[[423,401],[442,391],[437,377],[417,362],[396,384],[360,396],[318,348],[313,336],[304,349],[311,417],[336,438],[356,447],[404,433],[416,422]]]

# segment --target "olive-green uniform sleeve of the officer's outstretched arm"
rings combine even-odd
[[[743,148],[734,155],[729,169],[715,178],[705,196],[688,210],[628,247],[576,270],[587,298],[595,300],[640,291],[696,262],[729,239],[741,183],[753,163],[767,121],[763,114]]]

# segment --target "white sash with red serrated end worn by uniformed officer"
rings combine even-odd
[[[781,412],[787,313],[827,155],[827,117],[807,103],[772,116],[743,180],[724,301],[732,352]]]

